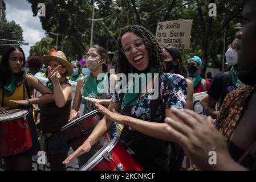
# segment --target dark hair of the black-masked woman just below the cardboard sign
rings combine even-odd
[[[178,60],[178,65],[177,67],[174,67],[173,73],[182,75],[186,78],[188,76],[188,72],[186,71],[186,68],[183,64],[183,59],[180,51],[178,51],[177,48],[172,46],[165,46],[164,48],[166,49],[166,51],[169,52],[169,54],[173,57],[174,60]]]

